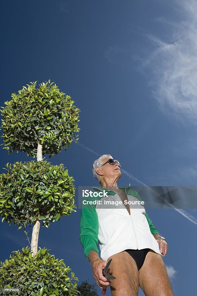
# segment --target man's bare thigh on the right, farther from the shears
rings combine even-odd
[[[163,259],[153,250],[139,270],[139,286],[146,296],[174,296]]]

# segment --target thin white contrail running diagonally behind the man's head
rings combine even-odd
[[[100,156],[100,154],[98,154],[97,152],[95,152],[94,150],[90,149],[89,147],[85,146],[84,144],[82,143],[79,143],[77,142],[78,145],[80,145],[81,147],[83,147],[84,149],[96,154],[97,156]],[[130,173],[128,173],[126,170],[122,170],[121,169],[121,172],[123,174],[125,174],[126,176],[128,176],[129,178],[139,182],[140,184],[144,185],[144,186],[147,186],[146,184],[144,184],[142,181],[138,180],[137,178],[135,178],[133,175],[131,175]],[[149,187],[149,186],[147,186]],[[150,188],[150,187],[149,187]],[[154,193],[158,194],[157,192],[155,192],[154,190],[152,190],[150,188],[151,191],[153,191]],[[170,207],[172,207],[175,211],[177,211],[178,213],[180,213],[183,217],[187,218],[189,221],[191,221],[192,223],[196,224],[197,225],[197,220],[195,217],[193,217],[192,215],[188,214],[186,211],[184,210],[180,210],[180,209],[177,209],[174,205],[170,204],[168,201],[165,201]]]

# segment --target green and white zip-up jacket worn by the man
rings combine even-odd
[[[125,189],[128,201],[142,201],[139,194],[129,186],[120,186]],[[96,192],[103,191],[102,187],[92,187]],[[108,197],[86,197],[84,200],[118,200],[120,197],[115,191],[106,190]],[[137,207],[130,205],[129,215],[125,205],[122,208],[116,205],[102,206],[99,204],[89,205],[85,208],[82,205],[80,221],[80,242],[87,257],[89,252],[95,250],[99,253],[97,244],[100,246],[100,257],[107,260],[111,255],[122,252],[126,249],[150,248],[156,253],[159,251],[159,244],[153,234],[159,233],[152,224],[143,205]]]

